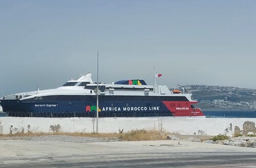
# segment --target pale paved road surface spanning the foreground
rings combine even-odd
[[[0,167],[256,167],[256,149],[177,141],[0,141]]]

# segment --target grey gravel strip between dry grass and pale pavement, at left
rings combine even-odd
[[[0,136],[0,140],[17,140],[23,139],[27,141],[58,141],[70,143],[95,143],[95,142],[116,142],[117,137],[100,138],[86,136],[68,136],[68,135],[42,135],[42,136]]]

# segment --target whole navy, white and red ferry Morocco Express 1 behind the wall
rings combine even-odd
[[[0,104],[13,117],[95,117],[97,83],[92,74],[63,86],[2,97]],[[98,83],[99,117],[205,117],[191,94],[144,80]]]

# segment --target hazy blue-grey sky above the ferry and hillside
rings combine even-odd
[[[256,89],[256,1],[0,0],[0,96],[72,76]]]

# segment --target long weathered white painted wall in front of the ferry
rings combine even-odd
[[[110,133],[124,129],[164,130],[180,134],[232,135],[234,126],[243,129],[245,121],[256,123],[256,119],[212,119],[212,118],[99,118],[99,132]],[[231,124],[231,127],[230,127]],[[50,126],[60,125],[61,132],[94,132],[94,118],[18,118],[1,117],[4,134],[21,132],[52,132]],[[11,128],[12,125],[12,128]],[[1,127],[0,127],[1,128]]]

